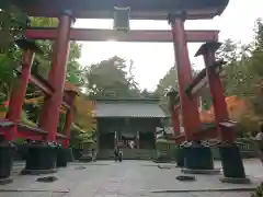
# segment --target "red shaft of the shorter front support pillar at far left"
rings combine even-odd
[[[26,43],[26,40],[24,42]],[[13,121],[15,125],[20,120],[24,103],[24,96],[26,94],[26,88],[31,76],[31,67],[34,60],[34,55],[35,54],[28,48],[23,51],[20,80],[13,85],[11,92],[7,119]],[[11,128],[10,132],[7,132],[5,138],[8,140],[12,140],[13,138],[15,138],[15,131],[16,127]]]

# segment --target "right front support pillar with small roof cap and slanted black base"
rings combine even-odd
[[[215,60],[215,51],[220,45],[221,44],[217,42],[206,43],[201,46],[195,56],[203,55],[206,66],[206,73],[215,108],[217,137],[220,140],[219,153],[225,176],[221,181],[226,183],[244,184],[250,183],[250,179],[245,177],[241,153],[235,143],[236,124],[229,120],[224,85],[219,72],[217,72],[214,67],[215,63],[220,63],[220,61]]]

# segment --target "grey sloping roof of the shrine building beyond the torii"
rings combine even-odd
[[[96,101],[95,117],[165,118],[159,100],[100,100]]]

